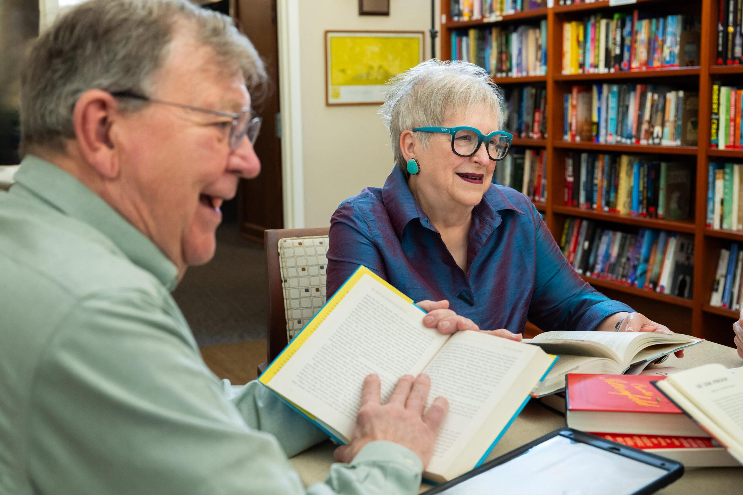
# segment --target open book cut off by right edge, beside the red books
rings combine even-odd
[[[743,464],[743,372],[704,364],[653,383]]]

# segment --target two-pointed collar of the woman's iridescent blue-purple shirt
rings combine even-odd
[[[398,237],[403,237],[405,227],[410,220],[415,218],[420,218],[421,224],[427,229],[435,230],[429,223],[426,213],[415,202],[415,197],[413,197],[408,187],[405,175],[397,165],[392,169],[392,173],[389,174],[384,183],[382,200]],[[496,219],[500,217],[498,212],[501,210],[513,210],[514,212],[524,214],[516,206],[513,206],[496,185],[491,184],[487,191],[485,191],[480,203],[473,209],[473,213],[495,228],[497,226]]]

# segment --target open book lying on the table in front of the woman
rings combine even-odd
[[[568,373],[637,375],[651,361],[701,340],[680,333],[555,331],[522,342],[559,355],[547,378],[533,390],[539,397],[565,389]]]

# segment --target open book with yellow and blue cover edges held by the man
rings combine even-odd
[[[424,476],[455,478],[484,462],[556,358],[480,332],[441,335],[424,327],[424,314],[360,266],[259,381],[346,443],[367,375],[380,376],[386,402],[398,378],[425,372],[426,407],[444,396],[450,410]]]

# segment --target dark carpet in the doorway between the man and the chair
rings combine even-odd
[[[266,258],[263,246],[244,240],[237,223],[217,230],[217,252],[192,267],[173,292],[199,346],[266,337]]]

